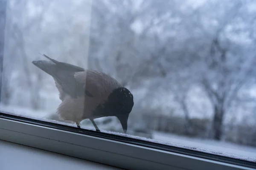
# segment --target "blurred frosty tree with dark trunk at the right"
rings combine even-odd
[[[250,24],[255,11],[249,14],[250,5],[250,1],[240,0],[205,3],[182,29],[187,32],[183,34],[190,34],[183,48],[194,58],[188,71],[197,73],[195,80],[212,103],[212,137],[217,140],[223,133],[224,116],[239,91],[255,79],[255,44],[248,34],[253,30]],[[244,16],[247,20],[242,20]]]

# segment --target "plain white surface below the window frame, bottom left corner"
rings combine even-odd
[[[0,140],[1,170],[118,170],[119,168],[77,159]]]

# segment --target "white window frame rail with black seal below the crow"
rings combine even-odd
[[[102,136],[102,137],[101,137]],[[23,144],[55,153],[95,161],[128,170],[256,170],[256,164],[234,159],[232,163],[186,153],[145,146],[139,139],[93,130],[79,130],[55,123],[0,114],[0,140]],[[109,138],[109,139],[107,139]],[[112,138],[112,139],[111,139]],[[137,143],[137,144],[136,144]],[[143,146],[144,145],[144,146]],[[240,164],[239,164],[240,162]],[[244,164],[242,164],[242,163]]]

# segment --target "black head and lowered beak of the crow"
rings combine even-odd
[[[105,111],[111,116],[116,116],[126,133],[129,114],[134,106],[133,95],[124,87],[116,88],[108,96],[108,101],[105,103]]]

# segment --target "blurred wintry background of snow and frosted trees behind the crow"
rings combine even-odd
[[[128,134],[244,145],[255,156],[256,1],[1,0],[0,8],[1,111],[58,120],[54,80],[31,63],[47,54],[129,88]],[[95,121],[122,132],[116,118]]]

